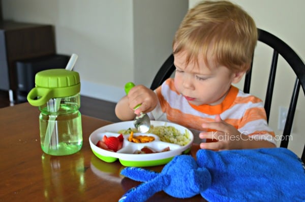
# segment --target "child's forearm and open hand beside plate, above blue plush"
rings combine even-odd
[[[267,140],[257,140],[251,138],[251,136],[241,134],[234,126],[221,120],[219,115],[216,116],[215,122],[203,123],[202,127],[216,131],[201,132],[199,134],[200,138],[217,139],[218,141],[201,143],[201,149],[232,150],[276,147]]]

